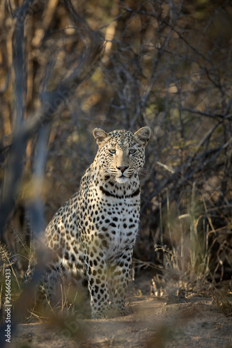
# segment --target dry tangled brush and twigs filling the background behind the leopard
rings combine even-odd
[[[31,230],[44,228],[93,161],[93,129],[148,125],[135,271],[151,267],[153,292],[167,283],[231,290],[231,1],[72,5],[0,3],[0,230],[16,278]],[[106,40],[95,72],[20,138],[82,63],[92,34]]]

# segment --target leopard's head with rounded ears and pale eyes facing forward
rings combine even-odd
[[[100,166],[116,182],[127,182],[144,166],[150,128],[142,127],[134,134],[123,129],[107,133],[95,128],[93,136],[99,146],[97,157]]]

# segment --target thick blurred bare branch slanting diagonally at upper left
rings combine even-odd
[[[20,10],[20,18],[18,19],[23,25],[23,19],[25,18],[26,12],[29,8],[29,3],[26,3],[24,6],[24,11]],[[27,6],[26,6],[27,5]],[[74,13],[72,13],[74,15]],[[77,14],[75,13],[77,16]],[[86,25],[85,25],[86,28]],[[17,30],[17,29],[15,29]],[[21,33],[21,31],[20,31]],[[22,35],[22,33],[21,33]],[[56,111],[60,106],[64,104],[65,101],[68,101],[70,97],[75,92],[77,86],[81,84],[84,79],[87,79],[95,71],[96,63],[100,59],[100,54],[104,47],[102,36],[98,33],[91,31],[89,33],[90,43],[86,48],[86,54],[82,57],[81,62],[78,67],[70,74],[69,77],[61,81],[61,84],[57,86],[52,92],[47,93],[46,98],[42,102],[42,106],[35,115],[31,115],[24,124],[17,129],[13,136],[13,143],[10,147],[9,152],[9,161],[8,168],[6,169],[6,175],[4,180],[4,189],[3,196],[1,199],[0,207],[0,226],[1,231],[0,235],[3,232],[3,227],[6,224],[8,214],[13,208],[15,201],[15,195],[17,192],[17,186],[20,182],[22,176],[22,158],[24,157],[24,152],[26,150],[26,143],[28,139],[33,136],[38,130],[51,122],[54,118]],[[21,47],[20,47],[21,52]],[[17,55],[17,52],[15,52]],[[22,61],[21,61],[22,63]],[[18,66],[20,70],[22,64]],[[22,72],[19,72],[19,76],[22,76]],[[19,86],[20,88],[20,86]],[[22,110],[22,90],[18,91],[20,96],[20,110]],[[20,116],[21,117],[21,116]]]

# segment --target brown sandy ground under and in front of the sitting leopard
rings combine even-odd
[[[136,282],[131,283],[127,298],[130,314],[125,317],[100,320],[66,317],[62,324],[61,321],[52,325],[20,324],[9,346],[232,348],[232,316],[226,317],[212,304],[212,299],[167,301],[139,293]]]

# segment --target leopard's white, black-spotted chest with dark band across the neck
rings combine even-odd
[[[139,227],[140,189],[107,189],[100,185],[93,189],[90,234],[91,239],[104,241],[105,253],[111,258],[134,246]]]

